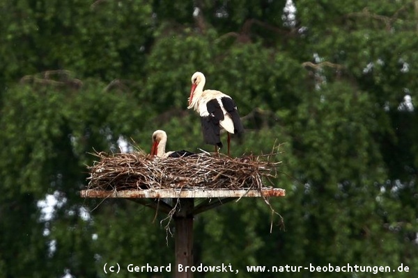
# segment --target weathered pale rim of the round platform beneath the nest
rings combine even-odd
[[[225,198],[225,197],[284,197],[282,188],[261,189],[140,189],[80,191],[84,198]]]

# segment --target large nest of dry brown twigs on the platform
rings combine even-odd
[[[88,189],[261,189],[272,186],[276,154],[230,158],[224,154],[201,153],[182,158],[157,158],[141,152],[94,154],[99,159],[88,167]]]

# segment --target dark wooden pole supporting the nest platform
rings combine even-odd
[[[179,198],[173,215],[176,227],[176,278],[193,278],[193,272],[186,268],[193,265],[193,208],[194,198]]]

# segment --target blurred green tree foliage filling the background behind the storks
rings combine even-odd
[[[1,2],[0,277],[173,263],[164,215],[79,190],[91,152],[121,140],[148,152],[155,129],[167,149],[212,151],[186,109],[198,70],[238,104],[247,132],[234,156],[279,149],[286,197],[270,200],[285,229],[261,199],[197,215],[196,264],[240,277],[309,263],[418,273],[418,3],[290,2]],[[368,275],[327,273],[353,276]]]

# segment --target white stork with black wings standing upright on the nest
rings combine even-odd
[[[230,156],[231,133],[241,136],[244,126],[237,111],[235,101],[229,95],[218,90],[203,90],[206,78],[201,72],[192,76],[189,106],[201,116],[203,140],[206,144],[222,148],[220,130],[224,128],[228,133],[228,156]]]

